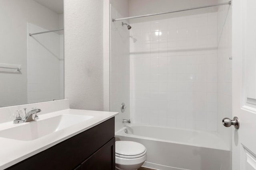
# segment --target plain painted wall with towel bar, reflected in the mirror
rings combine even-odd
[[[58,14],[34,0],[1,0],[0,6],[0,63],[22,65],[21,74],[0,72],[0,107],[26,104],[27,22],[58,29]]]

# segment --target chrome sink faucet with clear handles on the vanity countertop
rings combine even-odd
[[[21,117],[16,117],[16,119],[13,121],[14,124],[24,123],[38,119],[37,113],[40,112],[41,109],[32,108],[32,110],[30,110],[28,113],[26,113],[26,109],[27,108],[24,108],[25,117],[23,119],[21,119]]]

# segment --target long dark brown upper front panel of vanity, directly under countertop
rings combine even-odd
[[[73,170],[114,137],[114,117],[46,149],[8,170]]]

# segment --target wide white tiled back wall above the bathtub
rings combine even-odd
[[[217,13],[131,26],[133,123],[217,131]]]

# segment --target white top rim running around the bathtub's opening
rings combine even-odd
[[[157,138],[151,138],[151,137],[144,137],[144,136],[139,136],[139,135],[133,135],[133,134],[127,134],[124,133],[124,130],[127,127],[135,127],[135,126],[146,126],[146,127],[160,127],[160,128],[167,128],[167,129],[176,129],[176,130],[183,130],[183,131],[192,131],[192,132],[197,132],[197,133],[208,133],[211,135],[215,135],[218,137],[218,140],[220,140],[221,143],[223,143],[223,146],[202,146],[196,143],[185,143],[185,142],[178,142],[178,141],[170,141],[170,140],[164,140],[164,139],[157,139]],[[200,130],[193,130],[193,129],[182,129],[182,128],[177,128],[177,127],[163,127],[163,126],[154,126],[154,125],[142,125],[142,124],[127,124],[118,131],[116,131],[115,136],[126,136],[126,137],[134,137],[136,139],[146,139],[146,140],[152,140],[152,141],[161,141],[161,142],[167,142],[167,143],[175,143],[179,145],[189,145],[189,146],[194,146],[194,147],[202,147],[202,148],[208,148],[208,149],[217,149],[217,150],[226,150],[226,151],[231,151],[231,149],[222,141],[222,139],[218,136],[217,132],[207,132],[207,131],[200,131]]]

